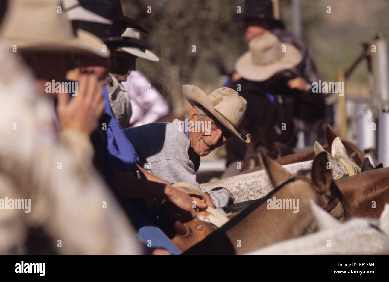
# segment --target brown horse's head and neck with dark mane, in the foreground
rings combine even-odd
[[[327,169],[325,152],[315,157],[311,178],[291,177],[282,166],[265,155],[261,155],[261,162],[276,188],[184,254],[244,254],[314,232],[316,224],[309,199],[314,199],[336,218],[344,219],[340,192],[332,180],[331,169]],[[298,212],[290,209],[293,200]]]

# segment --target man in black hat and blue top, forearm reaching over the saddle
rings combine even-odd
[[[80,57],[76,67],[68,72],[68,79],[78,81],[79,76],[86,71],[98,74],[98,79],[105,81],[109,71],[117,72],[117,47],[151,48],[151,45],[145,41],[121,37],[116,4],[109,1],[87,0],[82,0],[80,3],[89,11],[112,21],[112,25],[85,21],[81,21],[80,25],[81,29],[100,37],[104,45],[111,51],[112,56],[110,58],[111,62],[108,64],[103,60],[96,61],[89,60],[85,56]],[[153,176],[137,165],[139,161],[137,153],[124,135],[112,111],[105,85],[102,86],[102,92],[104,114],[100,120],[100,125],[92,133],[92,143],[95,148],[95,166],[102,173],[112,191],[121,200],[131,222],[138,230],[138,238],[145,245],[168,250],[171,254],[180,254],[181,251],[152,222],[145,199],[166,199],[190,213],[193,217],[196,216],[197,212],[192,207],[192,201],[197,202],[198,208],[205,209],[207,204],[202,203],[197,197],[193,198],[188,195],[195,193],[184,188],[174,188],[170,185],[170,182]],[[138,176],[143,176],[147,180],[140,179]]]

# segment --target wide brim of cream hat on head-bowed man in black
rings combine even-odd
[[[235,69],[242,78],[251,81],[265,81],[274,74],[287,69],[293,69],[301,62],[302,56],[292,44],[281,43],[286,46],[284,56],[278,61],[268,65],[258,65],[252,62],[251,51],[247,51],[238,58]]]

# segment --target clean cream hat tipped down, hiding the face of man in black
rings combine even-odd
[[[274,34],[265,33],[251,39],[249,51],[240,56],[235,69],[247,80],[264,81],[277,72],[292,69],[301,59],[292,44],[281,43]]]

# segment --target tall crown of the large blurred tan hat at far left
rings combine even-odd
[[[58,6],[58,0],[9,1],[1,36],[16,45],[18,42],[44,43],[74,39],[70,21],[65,11],[58,12]]]

